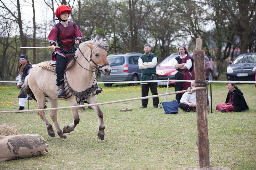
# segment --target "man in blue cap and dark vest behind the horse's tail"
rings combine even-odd
[[[19,56],[19,61],[20,61],[20,66],[18,69],[18,73],[20,74],[20,76],[19,76],[19,80],[17,83],[18,89],[21,88],[21,86],[24,83],[25,78],[27,77],[30,70],[32,69],[32,64],[27,60],[25,55]],[[19,106],[20,106],[20,108],[18,110],[24,110],[25,104],[28,99],[28,95],[25,92],[23,92],[18,96],[18,98],[19,98]]]

